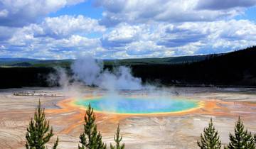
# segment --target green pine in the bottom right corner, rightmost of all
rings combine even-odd
[[[229,149],[255,149],[254,138],[252,133],[245,130],[245,126],[240,119],[235,123],[235,135],[230,133]]]

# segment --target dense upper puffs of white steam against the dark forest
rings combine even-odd
[[[92,57],[83,57],[75,60],[71,69],[75,79],[86,85],[95,85],[102,89],[142,89],[142,79],[133,77],[129,67],[117,67],[114,71],[103,69],[103,62]]]

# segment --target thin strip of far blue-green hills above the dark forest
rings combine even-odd
[[[221,55],[221,54],[220,54]],[[152,64],[178,64],[183,62],[198,62],[206,60],[209,55],[193,55],[164,58],[136,58],[123,60],[104,60],[105,65],[152,65]],[[26,58],[0,58],[0,66],[9,67],[69,67],[73,60],[36,60]]]

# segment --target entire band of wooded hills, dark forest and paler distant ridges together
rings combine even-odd
[[[73,60],[0,59],[0,88],[48,87],[48,75],[55,73],[53,67],[65,67],[68,74],[72,74],[72,62]],[[256,87],[256,46],[217,55],[105,60],[105,69],[110,71],[118,65],[131,67],[135,77],[154,84]]]

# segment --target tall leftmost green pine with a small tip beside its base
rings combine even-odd
[[[38,107],[34,118],[31,118],[26,132],[27,149],[46,149],[46,143],[53,136],[53,128],[50,128],[49,121],[46,120],[45,109],[41,108],[41,101],[38,101]],[[53,149],[58,146],[58,138],[53,145]]]

